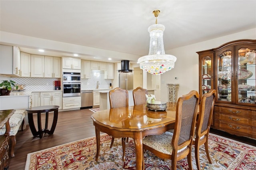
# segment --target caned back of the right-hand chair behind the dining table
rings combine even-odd
[[[134,105],[146,104],[147,94],[148,94],[148,90],[143,89],[142,87],[137,87],[136,89],[134,89],[132,91]]]

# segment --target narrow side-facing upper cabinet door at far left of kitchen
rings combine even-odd
[[[20,48],[13,46],[12,74],[20,77]]]

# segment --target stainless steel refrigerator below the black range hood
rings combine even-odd
[[[133,90],[133,73],[119,73],[119,87]]]

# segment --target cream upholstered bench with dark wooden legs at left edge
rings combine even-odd
[[[25,117],[25,111],[24,110],[15,110],[14,114],[9,119],[10,124],[10,140],[11,140],[11,148],[10,148],[10,156],[14,157],[14,148],[16,145],[16,134],[18,130],[20,129],[23,131],[24,126],[24,117]],[[4,134],[6,132],[6,127],[0,128],[0,135]]]

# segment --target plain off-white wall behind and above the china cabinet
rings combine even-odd
[[[166,54],[176,56],[177,61],[175,62],[174,69],[161,75],[161,100],[166,102],[168,101],[168,91],[166,87],[167,83],[180,84],[178,97],[188,93],[191,90],[199,90],[199,59],[198,54],[196,53],[197,51],[216,48],[224,43],[240,39],[255,40],[256,28],[165,51]],[[175,80],[174,77],[178,77],[178,80]]]

